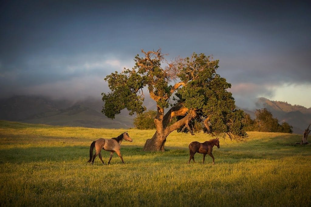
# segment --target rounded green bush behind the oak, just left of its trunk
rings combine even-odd
[[[156,111],[149,110],[134,118],[134,126],[137,129],[155,129]]]

